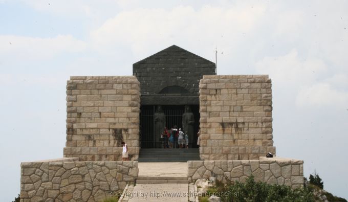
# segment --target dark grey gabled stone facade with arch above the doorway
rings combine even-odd
[[[133,75],[142,105],[198,105],[200,79],[215,75],[215,63],[173,45],[134,63]]]

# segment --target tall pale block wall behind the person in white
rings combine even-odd
[[[122,160],[139,155],[140,84],[135,76],[73,76],[67,84],[64,157],[80,161]]]

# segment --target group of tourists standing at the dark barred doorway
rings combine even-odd
[[[199,145],[199,135],[200,131],[197,133]],[[189,138],[187,131],[183,131],[181,128],[177,128],[177,126],[173,126],[168,130],[164,127],[163,132],[161,133],[162,140],[162,148],[186,148],[188,149]]]

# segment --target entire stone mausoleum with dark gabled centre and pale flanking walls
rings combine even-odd
[[[138,162],[187,162],[186,183],[252,174],[301,187],[303,161],[265,158],[276,153],[271,87],[268,75],[216,75],[175,45],[134,63],[133,76],[72,76],[64,158],[21,163],[21,201],[100,201],[137,181]],[[187,132],[189,149],[163,148],[164,127]]]

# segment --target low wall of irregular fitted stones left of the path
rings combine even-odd
[[[68,159],[69,160],[69,159]],[[138,176],[137,161],[21,163],[20,201],[101,201]]]

